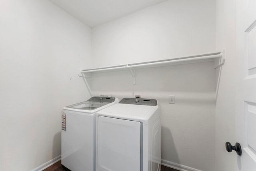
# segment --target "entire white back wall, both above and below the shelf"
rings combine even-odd
[[[215,0],[169,0],[92,29],[93,66],[215,51]],[[93,74],[94,95],[156,98],[162,106],[162,162],[215,171],[213,62]],[[176,104],[168,104],[175,95]]]

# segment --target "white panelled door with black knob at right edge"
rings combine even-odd
[[[237,0],[236,171],[256,171],[256,0]],[[233,144],[232,144],[233,145]]]

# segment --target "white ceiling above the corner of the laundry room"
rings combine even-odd
[[[95,27],[166,0],[50,0],[84,24]]]

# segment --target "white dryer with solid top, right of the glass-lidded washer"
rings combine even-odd
[[[96,171],[160,171],[156,99],[124,98],[96,112]]]

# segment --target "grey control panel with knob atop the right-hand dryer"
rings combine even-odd
[[[156,106],[156,99],[141,99],[141,98],[123,98],[119,103],[131,105],[150,105]]]

